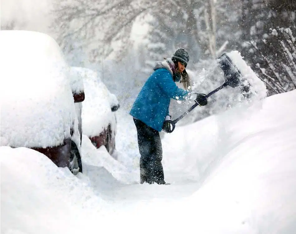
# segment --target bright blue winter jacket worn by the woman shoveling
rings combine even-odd
[[[130,115],[160,132],[165,116],[169,115],[170,99],[184,100],[188,93],[175,84],[169,70],[156,69],[138,94]]]

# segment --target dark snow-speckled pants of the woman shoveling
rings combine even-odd
[[[140,181],[141,184],[165,184],[164,172],[161,164],[162,146],[159,132],[141,120],[134,119],[138,134],[140,151]]]

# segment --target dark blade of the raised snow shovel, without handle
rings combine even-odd
[[[237,87],[241,82],[241,72],[232,63],[229,56],[227,56],[226,53],[223,53],[216,60],[220,68],[224,72],[225,83],[231,86],[232,88]]]

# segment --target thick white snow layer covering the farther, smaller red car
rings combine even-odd
[[[115,125],[111,106],[118,104],[102,82],[97,72],[83,67],[72,67],[83,77],[85,100],[82,102],[82,132],[91,137],[98,136],[109,123]]]

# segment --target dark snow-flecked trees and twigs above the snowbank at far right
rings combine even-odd
[[[286,53],[294,53],[289,41],[295,35],[295,6],[295,0],[243,1],[241,53],[265,82],[268,95],[294,89],[294,65]]]

